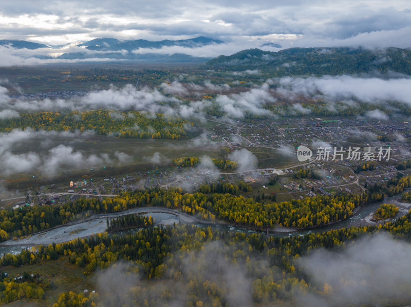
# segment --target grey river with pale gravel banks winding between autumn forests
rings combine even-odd
[[[400,208],[399,214],[396,216],[402,216],[408,212],[411,208],[411,203],[403,203],[399,202],[396,199],[398,195],[394,195],[391,197],[387,197],[381,201],[374,201],[370,203],[363,204],[363,206],[357,208],[354,211],[354,215],[346,220],[338,221],[326,226],[321,226],[313,229],[303,229],[303,230],[293,230],[293,229],[281,229],[279,231],[270,232],[270,236],[279,236],[279,237],[286,237],[286,236],[294,236],[294,235],[305,235],[308,233],[313,232],[324,232],[333,229],[341,229],[346,227],[352,226],[368,226],[373,222],[370,221],[370,217],[373,212],[377,210],[377,208],[382,203],[395,203],[396,206]],[[19,240],[8,240],[5,242],[0,243],[0,255],[4,253],[13,253],[17,254],[22,251],[24,248],[31,248],[35,245],[43,244],[48,245],[52,242],[54,243],[61,243],[66,242],[69,240],[73,240],[76,238],[84,238],[88,237],[92,234],[102,233],[107,228],[106,219],[107,218],[114,218],[121,215],[128,215],[128,214],[143,214],[143,215],[151,215],[154,218],[155,225],[158,226],[162,225],[169,225],[178,222],[184,223],[191,223],[195,224],[199,227],[208,227],[212,226],[214,229],[219,230],[227,230],[227,231],[235,231],[235,232],[245,232],[245,233],[255,233],[256,231],[249,230],[246,228],[241,227],[234,227],[229,226],[226,224],[218,224],[212,223],[208,221],[200,220],[194,216],[162,207],[143,207],[143,208],[134,208],[129,209],[123,212],[117,213],[107,213],[107,214],[96,214],[87,219],[70,222],[61,226],[57,226],[51,228],[49,230],[33,234],[31,236],[27,236],[23,239]],[[391,219],[392,220],[392,219]]]

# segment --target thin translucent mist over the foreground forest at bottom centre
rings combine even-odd
[[[230,253],[230,248],[220,241],[205,243],[199,251],[176,252],[173,259],[165,262],[171,261],[170,268],[177,262],[181,274],[176,278],[175,271],[169,270],[161,281],[155,283],[147,283],[135,273],[138,268],[132,263],[117,262],[98,273],[96,292],[99,303],[103,306],[131,306],[147,300],[150,305],[179,307],[190,300],[191,293],[196,293],[205,305],[211,305],[216,302],[200,290],[203,283],[209,283],[215,285],[222,295],[220,301],[227,305],[252,305],[252,280],[243,265],[227,259],[226,255]]]

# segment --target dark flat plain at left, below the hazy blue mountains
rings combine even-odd
[[[98,71],[95,71],[95,69]],[[8,82],[4,84],[11,94],[19,94],[23,91],[25,94],[51,92],[51,91],[90,91],[96,89],[107,89],[110,84],[115,86],[124,86],[127,83],[135,83],[140,76],[141,85],[158,85],[161,79],[151,78],[155,72],[165,72],[166,76],[192,71],[198,68],[195,64],[121,64],[121,63],[84,63],[84,64],[48,64],[43,66],[32,67],[14,67],[0,68],[0,74],[7,78]],[[116,79],[89,79],[82,81],[65,81],[67,74],[70,76],[113,76],[127,77],[127,80]],[[42,79],[41,77],[46,77]],[[131,79],[130,79],[131,78]]]

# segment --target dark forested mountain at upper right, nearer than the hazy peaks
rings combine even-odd
[[[273,77],[401,73],[411,75],[411,50],[387,48],[290,48],[278,52],[242,50],[220,55],[204,65],[219,71],[260,70]]]

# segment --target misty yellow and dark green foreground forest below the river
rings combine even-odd
[[[285,238],[187,225],[149,227],[123,236],[99,234],[47,247],[40,245],[37,251],[23,250],[18,255],[6,254],[0,258],[0,265],[8,265],[9,268],[23,266],[21,269],[24,270],[22,278],[17,280],[1,274],[0,302],[46,298],[46,294],[59,285],[50,282],[52,276],[48,277],[43,271],[33,275],[31,272],[39,265],[59,259],[68,259],[73,268],[82,269],[85,276],[97,274],[104,282],[100,281],[96,293],[54,292],[55,297],[47,297],[48,301],[55,302],[54,307],[175,306],[176,302],[179,306],[188,307],[230,307],[244,303],[247,306],[295,306],[296,293],[311,300],[318,296],[317,299],[328,301],[339,298],[340,291],[354,290],[357,287],[356,276],[345,274],[330,284],[323,280],[319,282],[302,270],[298,265],[300,259],[319,248],[333,250],[335,258],[337,253],[344,253],[346,245],[347,249],[350,248],[350,241],[358,241],[365,236],[367,240],[376,241],[376,233],[381,232],[394,235],[397,239],[395,244],[402,240],[409,242],[410,219],[411,212],[408,212],[398,221],[384,226],[352,227]],[[387,236],[380,234],[378,238],[378,242],[393,244]],[[401,244],[407,248],[407,243]],[[375,256],[379,258],[380,255]],[[350,259],[344,261],[349,263]],[[372,272],[381,277],[384,271],[376,267]],[[142,279],[130,279],[132,276]],[[113,281],[110,282],[111,279]],[[407,280],[405,278],[405,284],[401,285],[405,291],[398,289],[399,293],[407,293]],[[120,291],[121,287],[121,296],[105,292],[104,284],[109,284],[111,291]],[[363,280],[361,286],[372,287],[372,281]],[[182,293],[181,289],[184,289]],[[233,296],[238,291],[241,295]],[[403,302],[409,299],[409,295],[396,297],[394,293],[376,293],[372,298]],[[339,305],[357,305],[353,303],[341,304],[340,301]]]

